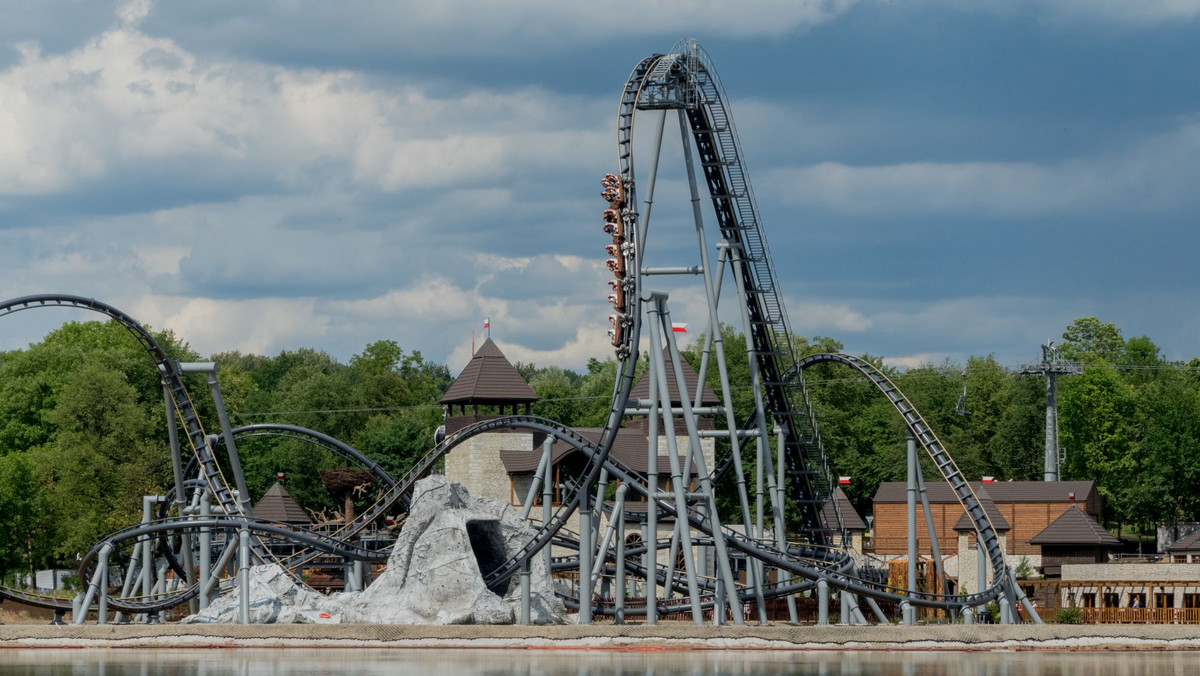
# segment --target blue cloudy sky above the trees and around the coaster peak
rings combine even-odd
[[[1016,365],[1096,316],[1200,354],[1200,0],[0,0],[0,299],[456,372],[491,317],[511,360],[582,369],[612,354],[620,90],[685,37],[794,333]],[[647,256],[691,265],[670,121]],[[664,285],[695,336],[702,291]],[[0,349],[90,318],[18,313]]]

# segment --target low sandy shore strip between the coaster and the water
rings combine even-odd
[[[1186,624],[918,627],[690,623],[562,626],[413,624],[4,624],[13,648],[486,648],[799,651],[1198,651]]]

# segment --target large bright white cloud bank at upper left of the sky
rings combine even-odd
[[[144,10],[122,6],[122,17]],[[202,60],[136,23],[65,54],[26,46],[0,71],[0,196],[180,162],[193,180],[264,175],[290,190],[330,175],[383,192],[496,185],[515,167],[576,166],[578,150],[607,146],[568,114],[578,102],[559,106],[545,91],[438,97],[372,88],[347,71]]]

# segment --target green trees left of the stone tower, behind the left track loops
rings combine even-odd
[[[198,360],[170,333],[155,337],[172,358]],[[349,364],[306,348],[212,360],[233,425],[277,412],[268,419],[365,448],[396,474],[432,447],[437,400],[451,381],[445,366],[392,341],[368,345]],[[204,377],[187,385],[204,427],[216,432]],[[140,519],[143,495],[164,492],[173,477],[162,396],[154,361],[113,322],[71,322],[0,354],[0,575],[73,564],[106,533]],[[252,499],[282,471],[301,505],[335,507],[318,471],[341,459],[295,439],[240,445]]]

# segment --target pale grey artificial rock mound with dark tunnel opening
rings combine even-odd
[[[295,585],[277,566],[259,566],[251,575],[251,621],[511,624],[521,610],[520,575],[488,588],[484,574],[535,533],[511,505],[428,477],[416,483],[388,569],[371,586],[324,597]],[[530,621],[564,622],[566,610],[542,558],[530,563]],[[235,622],[238,600],[236,592],[227,594],[184,622]]]

